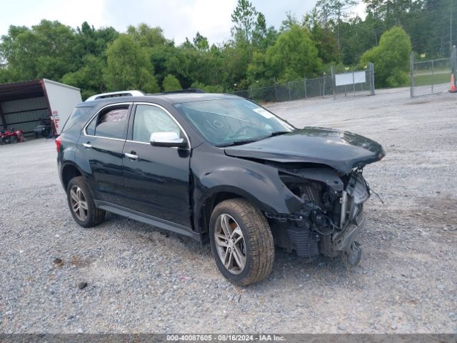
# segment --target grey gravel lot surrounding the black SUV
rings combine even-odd
[[[270,106],[380,141],[365,175],[385,204],[366,204],[358,267],[276,249],[271,277],[246,288],[191,239],[114,214],[76,225],[54,141],[0,146],[0,332],[456,333],[457,97],[408,95]]]

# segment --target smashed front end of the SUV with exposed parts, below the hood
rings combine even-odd
[[[362,169],[338,176],[327,168],[279,169],[283,184],[302,205],[292,214],[266,212],[275,244],[298,257],[346,253],[358,264],[361,248],[356,237],[365,225],[363,203],[370,197]]]

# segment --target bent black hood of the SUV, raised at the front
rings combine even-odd
[[[253,143],[228,146],[229,156],[283,163],[326,164],[344,174],[386,156],[381,144],[358,134],[322,127],[305,127]]]

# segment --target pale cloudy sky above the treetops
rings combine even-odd
[[[230,38],[231,13],[237,0],[1,0],[0,36],[8,33],[10,25],[32,26],[41,19],[58,20],[73,28],[84,21],[94,25],[113,26],[120,32],[127,26],[146,23],[160,26],[167,39],[181,44],[197,31],[209,43],[221,43]],[[276,28],[291,11],[301,19],[310,11],[316,0],[251,0],[257,11],[266,16],[268,26]],[[363,17],[364,7],[354,11]]]

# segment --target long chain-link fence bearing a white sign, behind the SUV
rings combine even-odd
[[[252,99],[256,102],[280,102],[313,98],[316,96],[356,96],[374,94],[374,66],[363,71],[351,71],[330,75],[325,73],[314,79],[289,81],[274,86],[234,91],[231,94]]]

